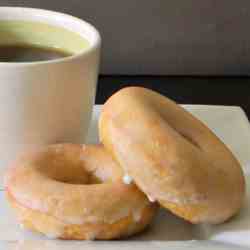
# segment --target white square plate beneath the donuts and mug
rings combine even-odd
[[[248,249],[250,247],[250,125],[239,107],[184,105],[206,123],[233,151],[247,176],[248,197],[241,213],[217,226],[189,224],[161,210],[149,230],[127,241],[87,242],[47,240],[23,231],[0,191],[0,250],[2,249]],[[97,120],[101,106],[96,105],[87,141],[98,142]],[[1,188],[0,184],[0,188]],[[3,188],[3,187],[2,187]]]

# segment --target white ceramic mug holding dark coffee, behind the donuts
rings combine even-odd
[[[95,101],[101,44],[100,35],[93,26],[62,13],[0,7],[0,23],[4,21],[44,23],[63,28],[77,35],[77,39],[84,38],[89,45],[81,49],[74,36],[46,33],[39,25],[33,30],[16,29],[20,39],[40,39],[41,43],[55,46],[58,43],[65,48],[71,46],[74,54],[50,61],[0,62],[1,177],[4,167],[19,152],[51,143],[83,141]],[[15,31],[11,31],[10,36],[1,36],[0,30],[1,41],[4,37],[7,41],[13,39],[15,35]]]

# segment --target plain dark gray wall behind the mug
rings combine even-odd
[[[103,37],[103,74],[250,73],[248,0],[0,0],[62,11]]]

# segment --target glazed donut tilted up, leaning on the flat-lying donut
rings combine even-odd
[[[221,223],[240,209],[241,166],[202,122],[140,87],[111,96],[99,120],[102,143],[136,185],[192,223]]]

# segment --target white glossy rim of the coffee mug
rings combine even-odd
[[[78,23],[79,25],[83,25],[85,28],[87,28],[93,35],[94,39],[93,41],[90,41],[90,39],[88,39],[88,37],[84,37],[88,42],[89,42],[89,46],[82,50],[79,51],[79,53],[75,53],[71,56],[67,56],[67,57],[62,57],[62,58],[57,58],[57,59],[51,59],[51,60],[44,60],[44,61],[32,61],[32,62],[1,62],[0,61],[0,66],[1,67],[23,67],[23,66],[34,66],[34,65],[45,65],[45,64],[55,64],[55,63],[64,63],[64,62],[69,62],[75,59],[78,59],[80,57],[85,57],[88,56],[89,54],[91,54],[94,51],[97,51],[100,49],[101,47],[101,35],[99,33],[99,31],[89,22],[86,22],[83,19],[80,19],[78,17],[75,17],[73,15],[70,14],[66,14],[63,12],[58,12],[58,11],[53,11],[53,10],[47,10],[47,9],[41,9],[41,8],[30,8],[30,7],[8,7],[8,6],[0,6],[0,14],[1,12],[31,12],[33,14],[33,16],[37,15],[38,17],[41,16],[41,14],[45,14],[47,16],[52,16],[53,18],[61,18],[61,19],[67,19],[69,21],[71,21],[72,23]],[[52,18],[52,19],[53,19]],[[16,19],[0,19],[1,20],[6,20],[6,21],[11,21],[11,20],[16,20]],[[29,19],[18,19],[20,21],[29,21]],[[30,19],[30,21],[32,21],[32,19]],[[35,21],[34,21],[35,22]],[[37,22],[39,22],[39,20],[37,20]],[[42,22],[42,19],[41,19]],[[63,27],[63,26],[59,26],[54,24],[54,26],[56,27]],[[64,29],[67,29],[65,27],[63,27]],[[76,34],[80,34],[80,32],[77,31],[72,31]]]

